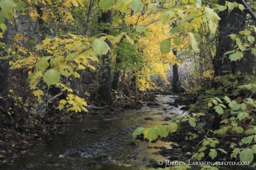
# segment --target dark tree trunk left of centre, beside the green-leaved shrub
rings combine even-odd
[[[100,18],[100,21],[103,21],[104,23],[111,23],[112,18],[112,12],[107,11],[105,13],[102,13],[102,16]],[[111,34],[111,31],[104,30],[104,33]],[[106,43],[111,48],[110,41],[106,40]],[[109,104],[112,105],[112,98],[111,98],[111,67],[109,66],[110,59],[109,56],[111,55],[111,51],[108,52],[106,55],[102,56],[102,81],[101,86],[98,90],[98,93],[100,94],[100,99],[103,101],[104,105]]]

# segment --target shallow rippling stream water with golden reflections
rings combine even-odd
[[[132,139],[132,133],[137,127],[160,126],[165,117],[182,114],[179,108],[169,106],[177,96],[157,95],[156,102],[160,106],[146,106],[139,111],[124,111],[107,113],[102,116],[88,116],[81,122],[68,123],[65,133],[56,138],[42,139],[36,146],[18,148],[21,153],[32,156],[18,159],[12,163],[0,164],[0,169],[147,169],[150,159],[165,160],[156,147],[169,147],[170,143],[157,141],[148,143]],[[150,117],[152,120],[146,120]],[[97,133],[81,132],[81,129],[97,128]],[[127,144],[136,143],[136,147]],[[95,161],[95,157],[107,153],[111,157],[109,162],[97,162],[94,166],[87,166]],[[137,158],[127,156],[136,154]]]

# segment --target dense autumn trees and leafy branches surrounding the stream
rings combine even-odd
[[[198,96],[191,114],[134,137],[151,142],[188,122],[186,139],[200,141],[192,158],[227,154],[255,166],[253,1],[0,0],[0,7],[3,129],[85,113],[89,102],[112,106],[122,90],[176,92],[182,83]]]

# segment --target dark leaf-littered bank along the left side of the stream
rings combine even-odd
[[[35,118],[34,121],[27,122],[25,118],[20,121],[18,127],[14,125],[11,128],[3,127],[0,134],[0,162],[13,162],[17,159],[31,156],[27,153],[18,153],[17,148],[35,146],[42,139],[57,138],[58,135],[65,133],[65,125],[71,122],[82,121],[92,114],[102,116],[110,112],[118,112],[127,106],[126,109],[140,109],[144,102],[154,103],[155,97],[153,94],[146,94],[137,98],[126,100],[124,103],[116,103],[115,106],[106,107],[104,109],[88,109],[88,113],[61,113],[52,114],[45,118]],[[99,107],[101,108],[101,107]]]

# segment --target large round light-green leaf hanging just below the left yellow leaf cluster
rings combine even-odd
[[[56,84],[60,81],[61,74],[56,69],[49,69],[45,74],[43,74],[43,81],[46,82],[48,87]]]

